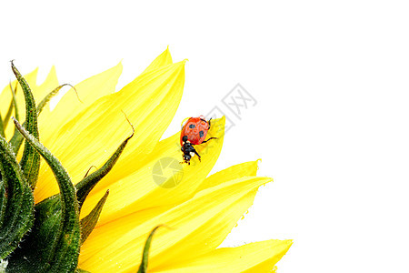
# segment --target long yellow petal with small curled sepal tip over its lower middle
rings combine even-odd
[[[145,209],[97,226],[81,248],[79,267],[95,272],[135,271],[147,234],[160,224],[175,229],[162,228],[155,234],[150,267],[165,268],[205,255],[221,244],[252,205],[257,188],[269,181],[268,177],[234,179],[178,206]]]

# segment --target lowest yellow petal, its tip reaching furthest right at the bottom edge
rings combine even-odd
[[[155,238],[154,238],[155,239]],[[149,268],[155,272],[272,272],[274,265],[293,244],[292,240],[268,240],[237,248],[218,248],[193,260],[162,268]]]

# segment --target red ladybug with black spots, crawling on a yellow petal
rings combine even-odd
[[[205,119],[205,116],[190,117],[184,126],[182,126],[182,131],[180,133],[180,145],[182,146],[180,150],[184,153],[184,161],[181,163],[187,163],[190,165],[190,159],[192,157],[199,157],[200,155],[195,150],[195,145],[206,143],[210,139],[217,139],[217,137],[210,137],[205,140],[207,132],[210,129],[210,121]]]

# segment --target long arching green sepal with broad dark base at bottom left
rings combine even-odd
[[[35,206],[33,232],[8,261],[10,272],[73,272],[78,263],[81,231],[75,187],[65,168],[35,136],[30,135],[15,119],[15,126],[25,136],[25,141],[35,147],[53,170],[60,188],[55,207],[45,207],[44,202]],[[43,204],[42,204],[43,203]],[[58,207],[61,207],[59,209]],[[54,214],[50,211],[54,210]],[[40,251],[45,250],[45,251]]]

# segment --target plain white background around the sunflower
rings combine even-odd
[[[165,136],[237,83],[254,96],[214,171],[263,158],[274,183],[225,246],[293,238],[283,273],[409,272],[407,2],[4,2],[2,86],[11,59],[71,84],[123,59],[121,87],[169,45],[189,62]]]

